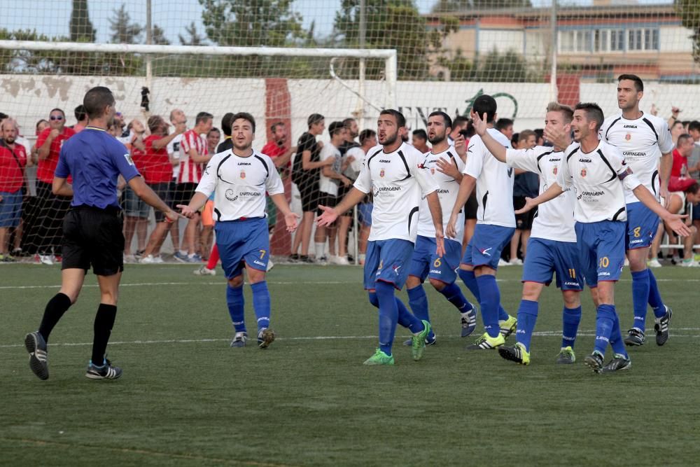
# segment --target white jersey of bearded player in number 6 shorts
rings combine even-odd
[[[457,193],[459,191],[459,182],[453,179],[451,176],[443,174],[437,167],[437,160],[445,160],[451,164],[456,165],[457,170],[462,172],[464,170],[464,162],[454,150],[453,146],[449,146],[442,153],[433,154],[428,152],[423,156],[423,164],[421,167],[423,170],[430,172],[433,179],[437,182],[440,188],[437,189],[437,197],[440,198],[440,207],[442,208],[442,227],[446,227],[449,222],[449,216],[452,213],[452,207],[457,200]],[[457,235],[453,240],[462,243],[462,234],[464,231],[464,209],[460,209],[459,215],[457,216],[456,225]],[[444,231],[442,232],[444,234]],[[435,224],[433,224],[433,214],[430,214],[430,209],[428,209],[428,199],[423,196],[421,200],[421,207],[419,209],[418,218],[418,235],[423,237],[435,238]]]

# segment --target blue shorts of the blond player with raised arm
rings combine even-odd
[[[530,237],[523,266],[523,282],[539,282],[548,286],[552,283],[554,272],[556,286],[561,290],[582,290],[577,245],[574,242]]]

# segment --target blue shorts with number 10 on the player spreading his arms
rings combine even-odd
[[[577,222],[575,229],[581,276],[586,284],[596,287],[598,281],[617,281],[624,265],[626,224],[619,221]]]

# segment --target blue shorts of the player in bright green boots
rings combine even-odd
[[[373,290],[375,282],[384,281],[401,290],[406,284],[413,249],[413,242],[402,239],[367,242],[365,289]]]

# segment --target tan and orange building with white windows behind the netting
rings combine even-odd
[[[642,78],[687,82],[700,78],[692,57],[692,31],[682,26],[673,4],[636,4],[595,0],[593,6],[559,7],[556,56],[559,70],[582,81],[605,81],[634,71]],[[440,16],[456,17],[459,29],[444,47],[475,60],[497,50],[514,50],[528,66],[547,74],[552,57],[550,8],[470,10],[427,14],[430,25]],[[435,68],[435,74],[444,69]],[[449,76],[444,76],[449,79]]]

